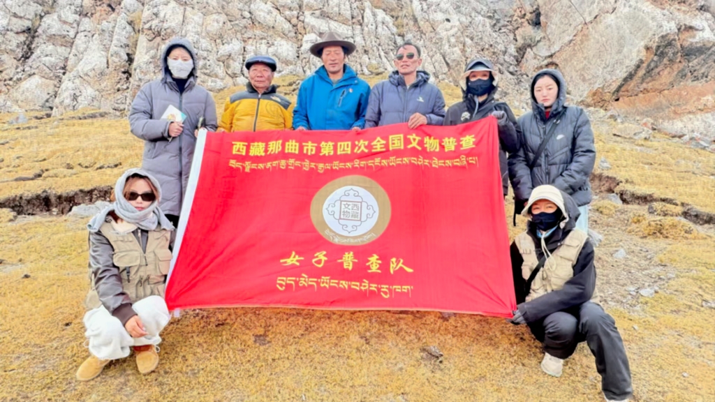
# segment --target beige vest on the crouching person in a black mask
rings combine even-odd
[[[578,260],[578,255],[581,254],[581,249],[586,243],[588,235],[581,230],[571,230],[550,258],[546,259],[541,271],[536,274],[531,283],[531,290],[526,296],[526,301],[536,299],[546,293],[553,292],[563,288],[563,284],[573,278],[573,265]],[[521,264],[521,275],[524,280],[528,280],[536,265],[536,245],[533,238],[524,232],[516,237],[516,247],[521,253],[523,263]],[[593,291],[591,301],[598,303],[598,295]]]

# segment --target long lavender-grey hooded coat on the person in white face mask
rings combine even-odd
[[[167,66],[169,49],[175,45],[187,49],[194,60],[194,69],[189,74],[183,93],[179,93]],[[163,190],[159,206],[167,215],[179,215],[181,212],[196,145],[194,130],[199,118],[204,117],[204,125],[209,131],[215,131],[217,127],[216,104],[211,94],[196,84],[196,64],[196,53],[187,39],[169,41],[162,52],[162,77],[139,90],[129,112],[132,134],[144,139],[142,168],[159,180]],[[170,105],[187,115],[184,131],[171,140],[168,134],[170,122],[161,119]]]

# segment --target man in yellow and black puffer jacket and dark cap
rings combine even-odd
[[[218,132],[291,129],[293,107],[290,100],[276,93],[272,85],[277,68],[274,59],[254,56],[246,60],[246,90],[226,100]]]

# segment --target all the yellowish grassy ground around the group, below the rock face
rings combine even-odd
[[[139,164],[126,120],[87,114],[20,126],[0,116],[0,202],[112,185]],[[681,216],[683,204],[715,212],[715,157],[657,134],[615,136],[606,120],[594,128],[610,191],[677,204],[619,205],[603,191],[591,208],[598,290],[626,345],[633,401],[715,401],[715,227]],[[586,345],[552,378],[526,327],[425,312],[188,310],[162,333],[157,371],[139,375],[130,357],[79,383],[86,223],[0,210],[0,401],[603,400]]]

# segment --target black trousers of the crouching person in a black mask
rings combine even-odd
[[[622,400],[633,394],[631,368],[616,321],[600,305],[586,302],[529,323],[531,333],[543,350],[556,358],[573,355],[576,345],[586,341],[601,374],[601,389],[608,399]]]

